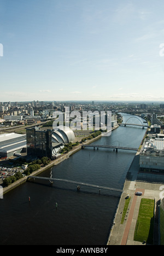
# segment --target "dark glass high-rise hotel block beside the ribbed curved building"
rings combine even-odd
[[[39,131],[35,128],[26,130],[27,155],[52,158],[52,131]]]

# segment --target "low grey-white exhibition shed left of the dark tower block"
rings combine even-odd
[[[26,135],[4,133],[0,135],[0,158],[9,158],[16,153],[26,152]]]

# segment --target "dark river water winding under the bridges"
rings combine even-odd
[[[122,114],[124,121],[131,115]],[[143,119],[140,118],[143,121]],[[140,124],[137,118],[130,123]],[[120,126],[94,142],[137,148],[145,130]],[[85,148],[40,176],[122,189],[136,152]],[[30,196],[31,201],[28,201]],[[0,200],[1,245],[106,245],[120,193],[71,183],[26,182]],[[56,208],[57,202],[57,208]]]

